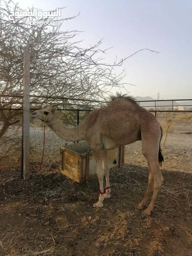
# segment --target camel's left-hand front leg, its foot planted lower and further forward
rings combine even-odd
[[[94,203],[94,207],[97,208],[102,208],[103,207],[103,200],[104,200],[104,191],[103,191],[103,175],[104,175],[104,171],[103,171],[103,166],[102,166],[102,158],[101,158],[101,146],[91,146],[91,150],[94,154],[95,157],[95,161],[96,161],[96,170],[97,170],[97,177],[99,180],[99,185],[100,185],[100,189],[99,189],[99,200],[97,203]]]

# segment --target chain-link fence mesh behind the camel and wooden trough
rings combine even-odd
[[[58,116],[69,127],[83,122],[94,108],[105,102],[71,100],[55,97],[31,96],[31,111],[47,106],[57,106]],[[18,123],[12,124],[0,139],[0,168],[21,166],[22,111],[0,110],[0,130],[5,124],[5,117],[12,115]],[[163,169],[188,171],[192,169],[192,111],[152,110],[163,128],[161,148],[164,155]],[[4,118],[3,118],[4,117]],[[44,158],[42,171],[59,167],[60,146],[70,144],[59,138],[50,127],[46,127]],[[37,119],[30,121],[30,171],[36,172],[43,153],[43,123]],[[129,165],[147,166],[142,155],[141,142],[126,145],[125,162]]]

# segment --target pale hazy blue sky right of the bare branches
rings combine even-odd
[[[64,22],[62,30],[84,31],[81,45],[112,47],[106,62],[126,58],[124,82],[130,95],[160,99],[192,98],[192,1],[191,0],[17,0],[21,8],[49,11],[60,7],[62,18],[80,16]],[[15,0],[14,0],[15,2]],[[116,92],[114,89],[112,92]],[[126,93],[126,90],[121,90]]]

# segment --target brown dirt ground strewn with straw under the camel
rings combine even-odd
[[[182,169],[191,155],[167,149],[153,213],[141,218],[134,206],[146,192],[148,169],[142,155],[135,160],[138,152],[129,152],[129,164],[110,174],[112,197],[101,209],[93,208],[97,179],[78,185],[59,174],[58,164],[40,173],[33,164],[29,181],[19,166],[1,168],[0,255],[191,256],[192,172]]]

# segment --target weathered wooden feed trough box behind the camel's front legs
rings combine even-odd
[[[110,171],[124,164],[124,146],[107,151]],[[96,178],[96,162],[90,145],[79,142],[60,146],[59,171],[78,183]]]

